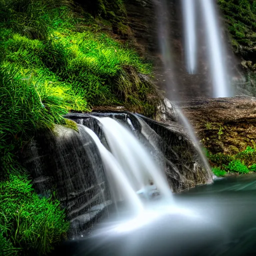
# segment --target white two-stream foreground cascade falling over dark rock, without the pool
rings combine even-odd
[[[140,223],[143,223],[142,219],[146,218],[146,221],[149,221],[152,215],[159,215],[159,210],[154,211],[153,214],[148,211],[150,200],[154,197],[158,199],[159,205],[164,202],[163,205],[173,207],[172,192],[164,170],[157,165],[153,156],[140,141],[131,131],[114,119],[94,118],[102,124],[110,151],[105,148],[91,129],[83,127],[95,141],[99,150],[109,182],[111,199],[117,210],[118,203],[123,201],[128,205],[128,212],[137,216],[135,220],[132,219],[131,222],[128,222],[130,223],[128,226],[127,222],[122,223],[125,225],[125,229],[131,228],[132,221],[137,223],[137,218],[140,219]],[[148,213],[145,213],[146,211]],[[148,216],[149,213],[150,216]]]

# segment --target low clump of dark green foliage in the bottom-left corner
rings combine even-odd
[[[63,238],[69,223],[58,201],[39,198],[26,177],[10,175],[0,182],[0,226],[3,253],[43,255]]]

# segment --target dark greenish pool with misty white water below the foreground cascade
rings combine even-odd
[[[124,220],[112,213],[90,234],[65,242],[54,253],[256,255],[256,174],[219,178],[173,196],[174,205],[156,200],[136,218]]]

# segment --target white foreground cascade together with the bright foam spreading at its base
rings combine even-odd
[[[102,124],[110,151],[91,129],[84,129],[98,147],[118,215],[95,235],[126,233],[169,214],[194,216],[192,211],[175,206],[164,170],[130,130],[112,118],[94,118]],[[120,201],[128,208],[119,207]]]

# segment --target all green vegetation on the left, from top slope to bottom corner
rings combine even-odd
[[[147,78],[150,64],[101,29],[110,25],[125,32],[122,1],[82,4],[0,0],[3,255],[46,254],[68,229],[59,202],[38,197],[19,163],[37,130],[70,126],[63,114],[97,105],[123,105],[154,115],[158,93]]]

